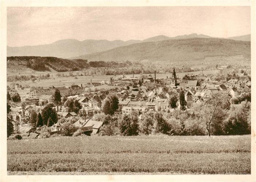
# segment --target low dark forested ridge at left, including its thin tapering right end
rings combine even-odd
[[[21,57],[7,57],[7,68],[31,68],[36,71],[49,71],[53,69],[58,72],[62,71],[77,71],[83,68],[93,67],[111,67],[124,68],[131,66],[129,61],[125,62],[105,62],[105,61],[90,61],[86,59],[62,59],[58,57],[35,57],[35,56],[21,56]]]

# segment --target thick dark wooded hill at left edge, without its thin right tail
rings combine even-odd
[[[75,71],[85,68],[87,60],[61,59],[57,57],[7,57],[7,69],[30,68],[37,71]]]

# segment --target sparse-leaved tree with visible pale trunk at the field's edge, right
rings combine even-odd
[[[201,108],[199,109],[199,117],[206,125],[208,136],[211,136],[212,126],[224,120],[223,118],[227,114],[226,111],[229,108],[229,97],[221,92],[213,93],[210,99],[205,104],[201,105]],[[220,124],[215,125],[215,129],[217,126],[220,127]]]

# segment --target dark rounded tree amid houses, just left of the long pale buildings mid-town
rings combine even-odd
[[[105,114],[113,115],[118,110],[118,98],[116,95],[109,95],[102,104],[102,111]]]

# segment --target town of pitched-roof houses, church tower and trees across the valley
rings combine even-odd
[[[106,86],[106,89],[93,89],[98,86]],[[238,121],[246,123],[241,131],[235,130],[238,124],[230,124],[230,118],[234,117],[231,110],[235,106],[242,104],[239,109],[250,112],[249,66],[220,66],[216,74],[204,74],[202,71],[196,75],[186,74],[183,78],[178,78],[173,67],[170,76],[165,79],[157,78],[156,71],[139,77],[113,76],[110,80],[91,80],[69,87],[32,87],[22,98],[17,92],[20,87],[18,84],[8,87],[9,138],[250,133],[249,118]],[[214,100],[216,95],[217,98],[223,97],[221,102],[229,102],[225,106],[229,113],[219,116],[226,110],[224,106],[221,110],[222,106],[210,105],[209,101]],[[219,119],[219,125],[213,125],[213,121],[211,124],[204,114],[200,117],[200,111],[206,105],[210,114]],[[218,113],[214,113],[216,109]],[[125,122],[127,120],[131,125]]]

